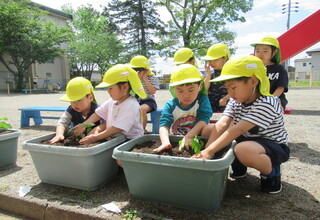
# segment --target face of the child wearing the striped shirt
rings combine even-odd
[[[254,88],[257,86],[252,77],[247,81],[245,80],[227,80],[224,82],[224,87],[228,90],[228,95],[239,103],[252,103],[256,98],[256,91]]]

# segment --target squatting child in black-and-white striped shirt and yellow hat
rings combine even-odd
[[[236,140],[232,178],[242,178],[247,167],[261,173],[261,190],[281,191],[280,164],[289,159],[288,135],[280,103],[269,93],[262,61],[255,56],[230,59],[221,76],[230,101],[212,129],[206,148],[194,158],[211,159]]]

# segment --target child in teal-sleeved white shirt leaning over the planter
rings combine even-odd
[[[198,69],[191,64],[181,64],[172,72],[170,92],[174,97],[168,101],[160,118],[160,152],[171,148],[169,129],[174,135],[184,135],[179,149],[189,148],[190,140],[200,135],[209,123],[212,110]]]

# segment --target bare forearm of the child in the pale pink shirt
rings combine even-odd
[[[105,126],[105,125],[99,125],[97,127],[97,129],[101,129],[102,130],[103,126]],[[96,133],[94,130],[92,130],[92,131],[93,131],[92,134],[82,138],[79,141],[79,143],[80,144],[92,144],[92,143],[95,143],[97,141],[107,139],[108,137],[112,137],[113,135],[120,133],[122,130],[120,128],[112,126],[112,127],[108,128],[107,130],[104,130],[104,131],[102,131],[100,133]]]

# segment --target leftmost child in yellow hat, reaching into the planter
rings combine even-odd
[[[71,102],[71,104],[59,119],[56,136],[51,139],[51,143],[63,141],[64,134],[71,123],[73,125],[83,123],[98,107],[92,84],[83,77],[71,79],[67,84],[66,94],[60,100]],[[100,122],[98,121],[96,125],[99,124]]]

